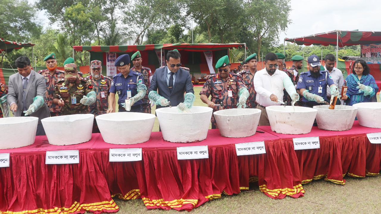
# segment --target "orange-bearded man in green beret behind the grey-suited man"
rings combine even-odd
[[[46,94],[45,102],[48,105],[50,116],[61,115],[61,107],[53,104],[54,88],[56,86],[57,80],[65,77],[65,72],[63,70],[57,69],[57,59],[56,54],[51,53],[44,58],[46,63],[45,70],[39,70],[38,73],[45,77],[46,82]]]

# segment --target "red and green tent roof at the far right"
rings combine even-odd
[[[285,38],[284,40],[298,45],[336,46],[337,36],[339,38],[339,47],[381,43],[381,32],[358,30],[334,30],[304,37]]]

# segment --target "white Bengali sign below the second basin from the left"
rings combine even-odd
[[[45,164],[79,163],[78,150],[46,151]]]

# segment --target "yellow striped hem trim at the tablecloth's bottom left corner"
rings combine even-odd
[[[101,209],[92,209],[92,208],[101,208]],[[53,209],[38,208],[34,210],[25,210],[25,211],[17,211],[17,212],[0,211],[0,213],[4,213],[4,214],[47,214],[47,213],[68,214],[68,213],[80,211],[81,209],[84,209],[86,211],[101,211],[103,209],[116,211],[119,209],[119,207],[117,206],[117,204],[115,204],[114,200],[102,201],[102,202],[90,203],[90,204],[80,204],[77,201],[75,201],[73,205],[70,206],[69,208],[66,208],[66,207],[62,207],[62,208],[56,207]]]

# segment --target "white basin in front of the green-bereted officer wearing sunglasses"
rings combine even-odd
[[[219,133],[224,137],[248,137],[255,134],[261,110],[224,109],[213,113]]]

